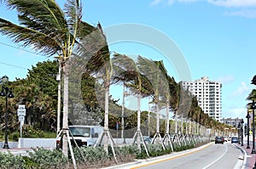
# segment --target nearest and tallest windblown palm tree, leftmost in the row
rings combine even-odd
[[[79,39],[96,28],[82,21],[79,0],[67,0],[65,8],[52,0],[3,0],[10,9],[16,9],[20,25],[0,18],[0,33],[22,47],[30,47],[51,56],[56,54],[63,70],[63,132],[68,124],[69,59]],[[67,156],[67,136],[63,134],[63,153]]]

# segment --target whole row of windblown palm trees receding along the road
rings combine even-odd
[[[157,125],[154,138],[160,138],[160,110],[166,109],[166,121],[170,110],[176,118],[187,118],[207,127],[221,129],[217,121],[203,113],[195,97],[184,90],[181,84],[167,75],[162,61],[153,61],[141,56],[135,62],[125,54],[113,54],[110,59],[107,39],[100,24],[89,25],[82,20],[82,5],[79,0],[68,0],[62,10],[52,0],[2,0],[11,9],[16,9],[20,25],[0,18],[0,33],[23,47],[30,47],[47,56],[57,55],[63,79],[63,153],[67,155],[67,128],[70,94],[74,92],[82,75],[95,76],[104,92],[104,137],[108,132],[109,87],[122,83],[137,95],[137,132],[140,142],[140,102],[151,97],[155,104]],[[76,83],[76,84],[74,84]],[[72,95],[71,94],[71,95]],[[74,95],[72,98],[76,98]],[[73,103],[72,103],[73,104]],[[166,122],[166,125],[169,125]],[[166,127],[169,128],[169,127]],[[168,131],[166,131],[168,134]],[[108,142],[107,142],[108,143]],[[105,145],[106,150],[108,145]]]

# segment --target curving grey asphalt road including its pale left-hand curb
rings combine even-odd
[[[234,144],[207,144],[198,149],[173,153],[160,158],[112,168],[131,169],[238,169],[243,165],[243,154]]]

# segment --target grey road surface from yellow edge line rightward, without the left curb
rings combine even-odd
[[[234,169],[241,155],[241,150],[236,146],[225,144],[212,144],[205,149],[193,153],[167,158],[165,160],[148,162],[147,164],[132,166],[139,169]]]

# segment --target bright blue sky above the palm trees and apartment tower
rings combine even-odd
[[[223,83],[223,116],[245,118],[246,98],[255,88],[250,84],[256,74],[255,0],[84,0],[83,4],[83,20],[91,25],[100,22],[108,40],[112,38],[108,35],[109,28],[131,23],[169,37],[183,54],[193,81],[208,76],[212,81]],[[3,4],[0,17],[16,22],[15,12]],[[131,31],[127,33],[132,36]],[[148,35],[148,39],[150,37],[154,36]],[[165,42],[158,43],[165,45]],[[159,48],[135,41],[115,42],[110,44],[110,49],[157,60],[166,61],[169,57]],[[25,78],[27,69],[48,59],[33,54],[28,48],[27,51],[20,49],[3,36],[0,36],[0,50],[0,76],[7,75],[11,81],[15,77]],[[167,60],[165,65],[176,82],[183,80],[172,61]]]

